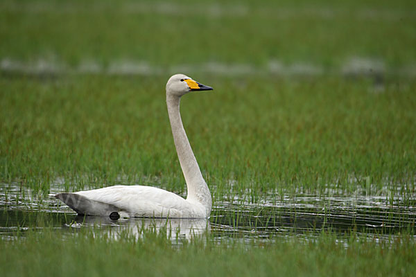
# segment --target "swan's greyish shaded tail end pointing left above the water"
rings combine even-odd
[[[97,202],[77,193],[58,193],[55,198],[67,204],[78,215],[106,215],[119,213],[120,209],[111,204]]]

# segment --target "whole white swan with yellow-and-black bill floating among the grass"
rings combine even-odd
[[[166,105],[173,141],[187,183],[187,199],[161,188],[150,186],[110,186],[76,193],[58,193],[55,198],[78,215],[119,217],[209,218],[211,193],[202,177],[180,117],[180,98],[191,91],[208,91],[211,87],[184,74],[175,74],[166,83]]]

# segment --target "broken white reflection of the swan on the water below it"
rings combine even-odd
[[[206,218],[143,218],[128,217],[112,220],[110,217],[77,215],[74,222],[67,226],[81,228],[83,226],[103,227],[112,238],[119,238],[122,233],[140,238],[146,231],[166,233],[171,240],[202,237],[209,233],[211,224]]]

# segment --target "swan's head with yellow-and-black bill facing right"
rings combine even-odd
[[[212,88],[194,81],[191,77],[184,74],[175,74],[169,78],[166,84],[166,94],[173,96],[183,96],[190,91],[211,91]]]

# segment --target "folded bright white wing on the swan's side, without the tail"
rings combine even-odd
[[[137,217],[182,217],[189,203],[175,193],[150,186],[111,186],[76,193]],[[105,208],[107,215],[111,208]]]

